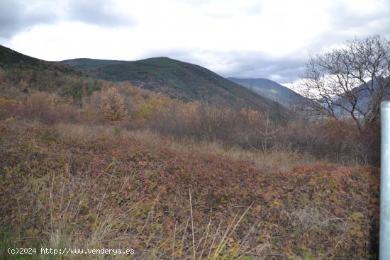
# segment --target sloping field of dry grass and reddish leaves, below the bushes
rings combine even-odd
[[[375,167],[107,123],[6,118],[0,129],[1,259],[7,247],[133,249],[131,259],[376,258]],[[22,256],[14,259],[86,258]]]

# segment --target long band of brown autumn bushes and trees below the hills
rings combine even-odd
[[[0,118],[43,123],[118,121],[126,130],[152,130],[177,140],[218,142],[267,154],[296,151],[341,164],[379,165],[379,125],[357,130],[351,120],[291,120],[280,125],[259,111],[174,101],[128,84],[104,87],[75,105],[56,94],[32,92],[0,100]],[[125,118],[126,117],[126,118]]]

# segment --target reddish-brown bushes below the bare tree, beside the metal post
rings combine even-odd
[[[277,134],[279,144],[289,145],[317,158],[335,162],[379,165],[380,129],[373,125],[360,132],[352,122],[323,120],[317,123],[296,121]]]

